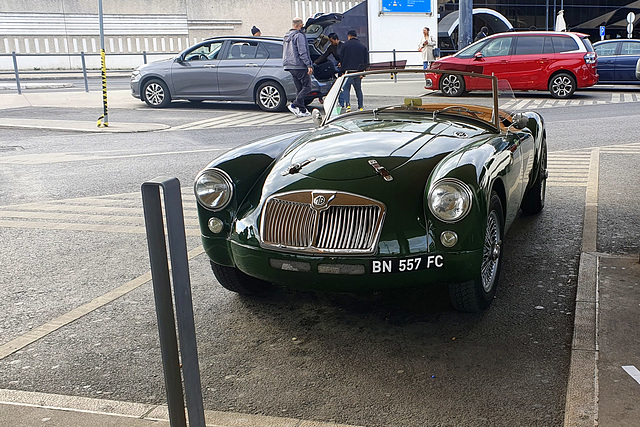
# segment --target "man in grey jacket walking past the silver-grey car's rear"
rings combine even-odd
[[[302,19],[294,18],[292,28],[284,36],[282,65],[291,73],[296,85],[296,99],[288,108],[297,117],[307,117],[311,113],[304,104],[306,96],[311,92],[311,75],[313,63],[309,54],[307,36],[302,30]]]

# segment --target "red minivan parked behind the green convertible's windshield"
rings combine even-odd
[[[435,70],[495,75],[513,90],[548,90],[554,98],[569,98],[576,89],[598,82],[596,54],[588,35],[528,31],[493,34],[452,56],[431,64]],[[486,90],[476,80],[447,74],[425,74],[427,88],[446,96]]]

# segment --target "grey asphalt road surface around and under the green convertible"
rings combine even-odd
[[[637,174],[625,173],[637,168],[637,154],[625,155],[625,146],[638,142],[640,104],[624,101],[633,91],[619,94],[581,91],[568,106],[551,105],[546,95],[521,98],[537,103],[546,122],[547,202],[507,234],[497,298],[482,314],[453,311],[446,290],[437,287],[371,295],[283,289],[240,297],[216,283],[205,255],[194,254],[205,408],[369,426],[561,425],[584,170],[595,147],[603,152],[598,247],[638,252],[638,210],[629,215],[616,201],[637,200]],[[579,102],[593,100],[609,102]],[[99,113],[2,111],[3,117],[87,120]],[[118,135],[3,129],[0,344],[149,270],[140,203],[140,184],[148,179],[181,180],[188,248],[197,248],[191,190],[197,172],[229,148],[310,126],[269,124],[258,113],[249,104],[176,103],[162,111],[140,104],[112,109],[111,120],[182,129]],[[214,125],[225,117],[234,119]],[[252,125],[242,126],[249,118]],[[134,285],[1,359],[0,388],[164,402],[151,284]]]

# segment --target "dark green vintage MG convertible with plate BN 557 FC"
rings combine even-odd
[[[491,304],[506,230],[544,206],[543,120],[500,109],[512,93],[495,77],[447,71],[487,88],[451,103],[423,88],[422,70],[389,73],[342,76],[314,111],[317,129],[236,148],[200,172],[202,240],[222,286],[445,283],[458,310]],[[365,108],[349,109],[344,84],[361,78]]]

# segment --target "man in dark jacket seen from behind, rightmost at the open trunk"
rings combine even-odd
[[[340,72],[357,72],[365,71],[369,68],[369,50],[358,40],[356,30],[349,30],[347,33],[349,40],[342,46],[340,52]],[[342,88],[342,93],[338,98],[341,107],[345,107],[347,111],[351,110],[350,97],[351,85],[356,90],[356,98],[358,98],[358,109],[362,110],[364,105],[362,95],[362,77],[349,77],[346,79]]]

